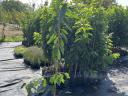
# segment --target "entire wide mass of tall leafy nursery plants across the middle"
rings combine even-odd
[[[33,38],[34,32],[39,32],[42,44],[38,42],[37,45],[43,48],[49,62],[60,63],[64,58],[67,69],[73,69],[73,77],[98,74],[108,65],[106,60],[111,61],[112,42],[108,34],[106,9],[102,6],[87,7],[82,3],[57,2],[26,14],[21,20],[26,44],[34,45],[34,39],[37,40]]]

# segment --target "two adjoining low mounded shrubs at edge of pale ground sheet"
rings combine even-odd
[[[39,69],[40,66],[48,66],[48,60],[44,56],[43,50],[38,47],[18,46],[14,50],[16,58],[24,58],[25,64],[32,69]]]

